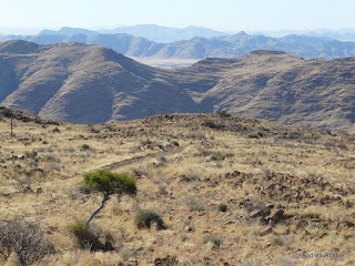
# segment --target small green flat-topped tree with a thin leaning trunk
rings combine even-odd
[[[84,186],[87,190],[102,193],[102,203],[94,211],[85,223],[85,228],[89,227],[93,217],[104,207],[110,196],[115,194],[119,197],[122,195],[134,196],[136,194],[135,180],[126,173],[115,174],[106,170],[98,170],[84,175]]]

